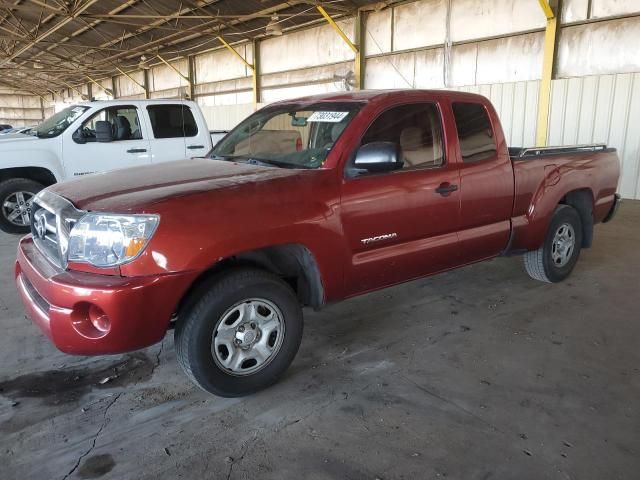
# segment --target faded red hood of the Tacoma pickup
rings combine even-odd
[[[168,199],[238,188],[300,170],[211,159],[192,159],[114,170],[58,183],[49,189],[83,210],[144,212]]]

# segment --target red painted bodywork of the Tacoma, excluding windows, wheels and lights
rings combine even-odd
[[[449,270],[512,249],[537,249],[558,202],[591,192],[594,220],[614,203],[615,153],[516,160],[509,157],[495,109],[477,95],[444,91],[351,92],[282,103],[360,102],[322,168],[291,170],[190,160],[100,174],[50,187],[78,208],[160,215],[144,253],[119,269],[54,267],[26,237],[16,280],[27,309],[63,351],[115,353],[164,335],[195,279],[220,260],[263,247],[300,244],[319,269],[324,302]],[[485,106],[497,154],[462,162],[451,103]],[[393,106],[434,102],[443,124],[445,164],[346,178],[345,166],[368,126]],[[443,184],[458,185],[447,196]],[[512,232],[513,230],[513,232]],[[393,233],[383,241],[363,239]],[[83,270],[83,271],[79,271]],[[101,274],[104,273],[104,274]],[[42,312],[25,280],[50,304]],[[111,331],[88,338],[74,309],[91,301],[112,319]]]

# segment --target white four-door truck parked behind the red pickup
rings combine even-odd
[[[113,100],[71,105],[32,135],[0,136],[0,230],[29,231],[31,199],[91,173],[204,156],[212,136],[195,102]]]

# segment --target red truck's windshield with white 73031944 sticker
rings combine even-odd
[[[212,158],[281,168],[319,168],[361,103],[322,102],[264,108],[234,128]]]

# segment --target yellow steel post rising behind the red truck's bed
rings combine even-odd
[[[547,17],[544,35],[544,57],[542,60],[542,79],[540,81],[540,95],[538,97],[538,126],[536,131],[536,145],[545,146],[549,133],[549,111],[551,104],[551,80],[553,79],[553,65],[555,59],[556,33],[558,19],[547,0],[539,0],[542,11]]]

